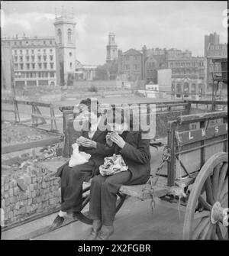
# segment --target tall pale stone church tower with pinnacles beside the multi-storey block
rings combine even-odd
[[[60,86],[71,85],[75,79],[76,21],[74,21],[73,12],[68,15],[63,9],[61,15],[55,16],[53,24],[56,39],[56,69],[60,70],[57,80]]]

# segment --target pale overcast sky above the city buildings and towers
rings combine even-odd
[[[84,2],[7,1],[2,2],[2,36],[54,36],[55,8],[71,13],[76,24],[76,56],[84,64],[103,64],[108,33],[114,32],[118,47],[140,50],[175,47],[203,56],[204,36],[214,31],[227,42],[222,22],[227,2]]]

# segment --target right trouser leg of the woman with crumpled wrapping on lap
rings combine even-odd
[[[101,186],[102,224],[112,225],[116,213],[117,193],[120,187],[131,179],[131,172],[124,171],[107,177]]]

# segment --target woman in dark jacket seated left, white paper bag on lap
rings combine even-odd
[[[81,211],[82,183],[89,181],[95,175],[95,170],[99,165],[103,164],[105,157],[103,152],[105,152],[105,136],[107,131],[99,130],[100,122],[105,123],[105,120],[101,115],[97,114],[98,109],[96,109],[96,113],[91,109],[91,99],[82,100],[79,104],[86,106],[85,109],[82,109],[80,118],[88,119],[90,113],[90,123],[88,125],[89,129],[82,129],[82,136],[80,140],[76,141],[79,144],[79,151],[91,154],[91,157],[85,164],[69,167],[69,161],[67,161],[66,164],[58,168],[56,177],[61,178],[61,211],[53,221],[53,228],[62,225],[67,212],[73,212],[73,215],[77,216],[77,212]],[[85,127],[87,122],[89,120],[86,120]]]

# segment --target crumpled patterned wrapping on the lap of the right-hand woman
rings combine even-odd
[[[128,167],[124,163],[121,154],[113,154],[112,157],[105,157],[104,164],[99,167],[99,172],[102,176],[113,175],[124,170],[128,170]]]

